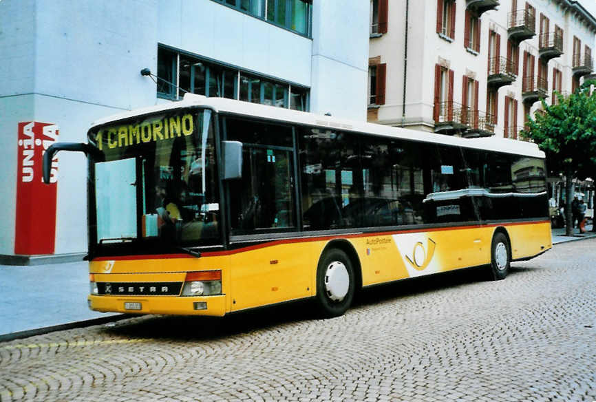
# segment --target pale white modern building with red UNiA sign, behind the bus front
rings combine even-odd
[[[0,257],[85,252],[85,158],[61,153],[47,193],[41,154],[85,142],[97,118],[184,89],[365,120],[368,12],[361,0],[1,0]]]

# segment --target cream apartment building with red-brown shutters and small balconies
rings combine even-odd
[[[593,72],[583,1],[371,0],[368,120],[519,138],[528,115]]]

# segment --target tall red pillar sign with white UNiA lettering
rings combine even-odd
[[[43,183],[42,160],[45,149],[57,139],[57,125],[19,123],[15,254],[54,253],[58,159],[52,160],[51,184]]]

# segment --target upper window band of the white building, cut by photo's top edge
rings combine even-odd
[[[312,0],[213,0],[288,30],[310,36]]]

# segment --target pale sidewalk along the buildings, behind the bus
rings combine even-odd
[[[592,225],[586,226],[590,231]],[[553,244],[596,237],[588,232],[565,236],[553,229]],[[87,307],[87,262],[36,266],[0,265],[0,341],[29,337],[76,326],[113,321],[123,315],[98,313]]]

